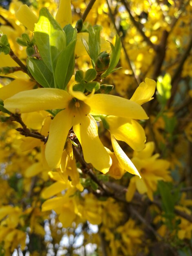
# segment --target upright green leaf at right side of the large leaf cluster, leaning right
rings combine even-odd
[[[56,85],[60,89],[65,89],[67,83],[74,74],[75,67],[75,45],[76,39],[73,40],[58,57],[55,69]]]

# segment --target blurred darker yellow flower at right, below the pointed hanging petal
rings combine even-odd
[[[131,201],[136,189],[140,194],[147,193],[150,200],[153,200],[153,192],[157,189],[159,180],[172,181],[169,171],[170,162],[157,159],[159,154],[152,155],[154,151],[154,142],[148,142],[146,148],[140,152],[134,152],[134,157],[131,159],[139,173],[141,180],[134,176],[131,178],[126,200]]]

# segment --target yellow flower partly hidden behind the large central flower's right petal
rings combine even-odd
[[[138,103],[139,105],[152,100],[152,95],[154,94],[156,83],[152,79],[145,79],[145,82],[142,82],[136,91],[134,92],[131,101]],[[140,151],[145,147],[145,131],[142,126],[133,120],[137,119],[136,117],[125,118],[119,116],[108,115],[102,117],[103,124],[111,133],[112,146],[114,153],[119,161],[119,164],[129,173],[138,175],[140,174],[132,164],[131,160],[123,152],[121,147],[118,145],[117,140],[125,141],[129,146],[134,150]]]

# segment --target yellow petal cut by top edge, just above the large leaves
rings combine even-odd
[[[60,0],[55,19],[62,28],[72,24],[71,0]]]

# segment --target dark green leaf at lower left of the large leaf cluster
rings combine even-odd
[[[54,88],[53,73],[47,68],[42,60],[29,57],[27,67],[36,81],[45,88]]]

